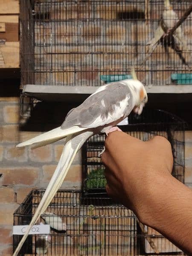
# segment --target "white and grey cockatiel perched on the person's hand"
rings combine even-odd
[[[143,84],[137,80],[135,73],[132,73],[132,76],[134,79],[116,81],[99,87],[81,105],[67,113],[60,127],[17,145],[17,147],[32,145],[33,148],[37,148],[66,137],[58,166],[13,256],[17,256],[29,230],[52,201],[84,142],[94,134],[108,134],[115,130],[114,126],[127,117],[132,110],[138,114],[142,113],[148,99],[147,93]]]

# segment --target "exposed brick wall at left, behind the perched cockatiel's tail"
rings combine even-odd
[[[13,212],[32,188],[46,188],[58,163],[63,141],[42,148],[15,148],[40,132],[20,131],[19,97],[0,97],[0,255],[11,255]],[[57,125],[57,124],[56,124]],[[55,125],[55,127],[56,127]],[[62,188],[81,186],[81,152]]]

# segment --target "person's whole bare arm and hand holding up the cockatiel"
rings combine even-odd
[[[171,175],[170,143],[158,136],[143,142],[114,131],[105,140],[102,161],[108,195],[192,255],[192,190]]]

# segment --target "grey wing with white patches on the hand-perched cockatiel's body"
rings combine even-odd
[[[90,95],[81,105],[70,111],[61,129],[67,129],[74,125],[82,128],[93,128],[113,122],[116,116],[123,115],[125,111],[131,112],[132,94],[128,86],[122,81],[113,82],[99,87],[96,93]],[[122,102],[126,102],[124,106]],[[128,106],[128,108],[127,108]],[[119,118],[121,117],[119,116]]]

